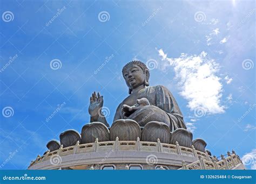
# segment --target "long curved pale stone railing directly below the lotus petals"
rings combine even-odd
[[[197,159],[201,158],[201,160],[208,162],[211,162],[211,160],[213,159],[213,157],[208,155],[206,152],[204,153],[196,150],[193,145],[191,146],[191,148],[188,148],[179,146],[178,142],[176,142],[176,145],[160,143],[159,139],[157,140],[157,142],[140,141],[139,138],[137,138],[137,141],[119,141],[117,137],[115,141],[98,142],[98,139],[96,139],[95,143],[79,144],[79,141],[77,141],[76,145],[65,148],[61,145],[60,148],[56,151],[48,151],[42,157],[38,155],[36,160],[31,161],[29,167],[46,160],[50,160],[53,155],[64,157],[71,154],[109,151],[161,152],[184,155],[186,157],[193,157]]]

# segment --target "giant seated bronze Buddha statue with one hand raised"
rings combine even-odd
[[[143,62],[131,61],[123,67],[123,77],[129,96],[121,102],[114,115],[118,119],[132,119],[144,127],[149,122],[162,122],[170,131],[186,129],[183,115],[172,93],[164,86],[149,86],[150,71]],[[103,96],[93,92],[90,97],[90,122],[101,122],[109,127],[101,109]]]

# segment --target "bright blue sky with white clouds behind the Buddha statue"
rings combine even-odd
[[[26,169],[60,132],[80,132],[94,90],[112,124],[128,95],[122,68],[134,59],[150,67],[151,86],[176,97],[193,138],[217,157],[234,149],[256,168],[254,1],[5,0],[0,7],[1,169]]]

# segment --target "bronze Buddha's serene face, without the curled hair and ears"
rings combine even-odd
[[[124,79],[130,89],[136,89],[144,84],[146,74],[138,65],[132,64],[124,70]]]

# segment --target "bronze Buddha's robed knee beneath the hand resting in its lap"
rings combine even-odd
[[[152,121],[158,121],[166,123],[170,127],[170,118],[166,112],[153,105],[146,105],[136,110],[129,116],[129,119],[133,119],[140,126],[145,126]]]

